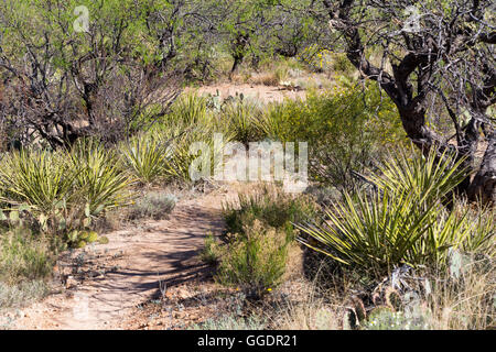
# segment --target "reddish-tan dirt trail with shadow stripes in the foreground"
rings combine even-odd
[[[112,263],[117,270],[24,309],[14,329],[119,328],[133,307],[160,292],[159,282],[171,287],[205,270],[197,251],[208,231],[222,231],[222,204],[229,196],[215,190],[180,201],[169,220],[150,222],[148,232],[107,234],[110,243],[97,245],[95,251],[100,253],[98,261],[117,253],[119,258]]]

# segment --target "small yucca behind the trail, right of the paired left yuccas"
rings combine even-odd
[[[134,136],[121,144],[125,166],[142,184],[153,184],[164,176],[168,146],[151,133]]]

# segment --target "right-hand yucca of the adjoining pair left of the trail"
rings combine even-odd
[[[132,183],[119,165],[114,151],[94,140],[80,140],[72,150],[71,162],[78,167],[76,186],[85,205],[86,216],[123,206],[129,201],[127,187]]]

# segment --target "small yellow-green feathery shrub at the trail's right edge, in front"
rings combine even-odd
[[[260,298],[280,284],[290,243],[285,234],[255,221],[245,227],[244,235],[234,234],[223,248],[215,278]]]

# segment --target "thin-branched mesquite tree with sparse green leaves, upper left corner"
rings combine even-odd
[[[82,136],[116,142],[163,116],[180,91],[168,35],[174,9],[153,0],[2,1],[3,131],[18,144],[60,147]]]

